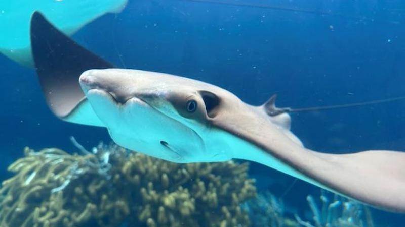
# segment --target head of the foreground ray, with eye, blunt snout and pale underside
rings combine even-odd
[[[231,158],[229,153],[207,147],[212,144],[212,140],[207,141],[208,129],[219,103],[207,89],[215,86],[125,69],[88,70],[79,82],[117,144],[173,162]]]

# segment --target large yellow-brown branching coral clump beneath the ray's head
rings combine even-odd
[[[249,226],[239,204],[256,194],[247,163],[176,164],[116,145],[85,155],[26,148],[9,171],[4,227]]]

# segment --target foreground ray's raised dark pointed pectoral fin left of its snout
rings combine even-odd
[[[75,43],[38,12],[31,18],[30,38],[35,70],[55,115],[68,122],[104,126],[87,101],[78,78],[86,70],[113,65]]]

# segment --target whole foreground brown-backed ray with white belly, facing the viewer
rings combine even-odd
[[[403,152],[307,149],[290,132],[290,116],[275,107],[274,98],[252,106],[208,83],[113,69],[39,13],[32,17],[31,42],[48,104],[65,121],[105,127],[118,145],[154,157],[183,163],[251,160],[373,206],[405,212]]]

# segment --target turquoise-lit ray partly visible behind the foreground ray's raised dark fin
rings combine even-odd
[[[18,0],[0,1],[0,52],[25,66],[33,66],[29,24],[32,13],[41,11],[65,34],[72,35],[106,13],[118,13],[128,0]]]

